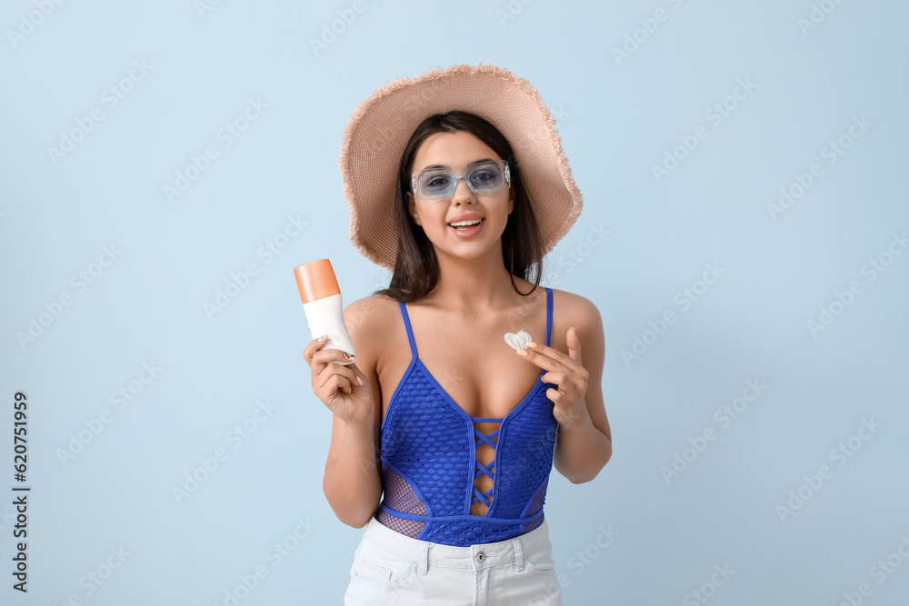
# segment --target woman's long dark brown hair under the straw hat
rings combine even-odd
[[[508,222],[502,233],[504,265],[508,268],[516,293],[527,296],[540,285],[543,244],[540,242],[534,209],[524,190],[521,167],[515,161],[511,144],[493,124],[480,116],[452,111],[431,115],[420,123],[407,142],[404,154],[401,155],[395,186],[395,231],[398,240],[395,271],[392,273],[388,288],[377,290],[373,294],[385,294],[395,301],[409,303],[425,296],[438,283],[439,263],[435,257],[433,243],[426,237],[423,228],[417,225],[411,217],[405,192],[410,189],[414,158],[420,145],[431,134],[458,131],[473,134],[484,144],[489,145],[500,158],[508,161],[511,186],[514,188],[514,210],[508,215]],[[531,280],[530,275],[533,269],[535,269],[534,279]],[[534,288],[530,290],[530,293],[522,293],[518,290],[517,285],[514,284],[515,275],[534,283]]]

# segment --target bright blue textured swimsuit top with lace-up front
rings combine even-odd
[[[543,523],[558,429],[546,390],[556,386],[542,381],[541,370],[504,419],[468,416],[417,356],[407,308],[398,304],[413,359],[382,422],[385,495],[376,518],[415,539],[461,547],[534,530]],[[546,288],[546,345],[552,323],[553,292]],[[474,422],[494,422],[499,428],[486,434]],[[476,446],[483,442],[495,450],[489,465],[476,461]],[[491,491],[474,487],[481,475],[493,479]],[[484,515],[470,513],[474,502],[488,507]]]

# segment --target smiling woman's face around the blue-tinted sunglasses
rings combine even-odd
[[[419,174],[427,166],[445,166],[455,174],[464,174],[467,167],[482,160],[502,160],[489,145],[473,134],[436,133],[430,135],[414,157],[411,174]],[[408,192],[407,203],[416,224],[421,225],[436,254],[451,254],[462,258],[480,258],[496,245],[501,253],[501,239],[508,215],[514,210],[514,189],[507,185],[489,194],[474,194],[464,179],[458,179],[454,194],[437,200],[422,199]],[[451,223],[465,219],[480,219],[478,227],[457,231]]]

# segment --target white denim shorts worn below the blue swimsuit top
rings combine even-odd
[[[549,526],[508,541],[453,547],[366,524],[345,606],[564,606]]]

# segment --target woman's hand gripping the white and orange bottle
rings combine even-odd
[[[375,418],[373,388],[355,363],[347,362],[339,349],[322,349],[327,341],[313,339],[303,357],[313,372],[313,392],[346,424],[372,422]]]

